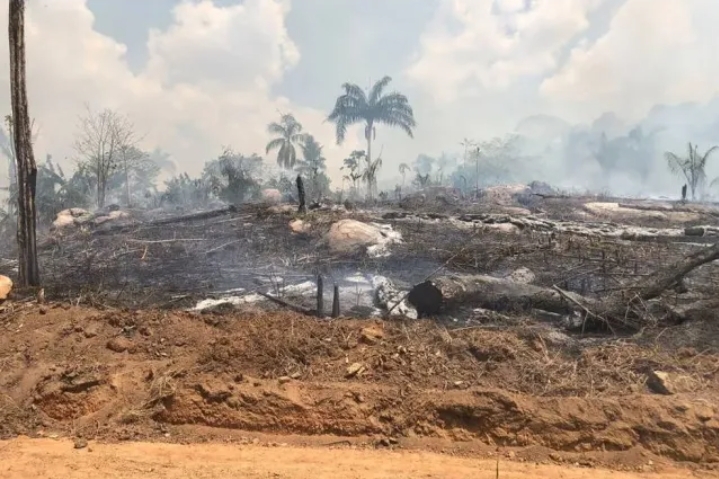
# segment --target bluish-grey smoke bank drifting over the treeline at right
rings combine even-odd
[[[635,123],[613,112],[586,124],[538,114],[504,135],[470,140],[470,146],[447,145],[440,155],[420,154],[411,164],[412,175],[429,172],[435,183],[443,177],[443,184],[458,188],[537,180],[573,193],[678,198],[686,180],[670,171],[665,153],[683,157],[689,142],[702,154],[719,145],[719,100],[658,105]],[[454,168],[446,168],[447,158]],[[719,188],[710,186],[719,177],[719,154],[710,156],[706,177],[702,193],[708,200],[719,196]],[[387,171],[381,185],[390,188],[400,181]]]

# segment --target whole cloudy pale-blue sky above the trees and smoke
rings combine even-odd
[[[363,134],[336,145],[325,121],[344,82],[389,75],[409,97],[414,138],[377,131],[392,174],[527,116],[631,123],[719,86],[716,0],[28,0],[26,22],[36,155],[68,165],[87,108],[126,115],[191,174],[223,146],[264,154],[267,124],[291,112],[337,181]],[[0,92],[9,112],[8,74]]]

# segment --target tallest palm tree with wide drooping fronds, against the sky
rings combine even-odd
[[[416,126],[414,112],[407,97],[398,92],[383,95],[392,78],[385,76],[365,92],[358,85],[345,83],[345,90],[335,102],[328,120],[336,126],[337,144],[341,144],[347,134],[347,128],[356,123],[364,123],[364,136],[367,140],[367,164],[372,165],[372,140],[376,137],[375,125],[384,124],[404,130],[410,138]]]

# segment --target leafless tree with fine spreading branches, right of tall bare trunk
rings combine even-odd
[[[93,177],[97,207],[105,206],[108,184],[118,171],[129,172],[137,144],[133,125],[119,113],[104,109],[94,113],[87,108],[80,117],[80,131],[75,140],[75,151],[80,155],[78,166]],[[133,149],[134,148],[134,149]]]

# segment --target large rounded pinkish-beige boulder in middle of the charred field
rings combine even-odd
[[[386,246],[401,242],[401,234],[391,225],[340,220],[330,227],[327,242],[335,253],[351,254],[365,250],[370,256],[384,256]]]

